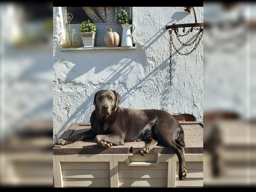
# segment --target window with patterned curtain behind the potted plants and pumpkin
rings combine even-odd
[[[124,9],[128,17],[132,19],[132,9],[131,7],[66,7],[66,13],[71,13],[73,19],[68,24],[67,20],[65,21],[65,27],[70,28],[72,31],[76,29],[78,35],[80,46],[83,47],[82,37],[79,31],[79,25],[82,24],[82,21],[90,19],[96,27],[96,37],[95,37],[95,46],[106,46],[104,43],[104,36],[108,32],[107,28],[112,28],[113,31],[116,31],[120,38],[122,38],[123,28],[121,24],[116,23],[117,13],[121,13],[121,10]]]

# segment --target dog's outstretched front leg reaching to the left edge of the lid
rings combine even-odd
[[[86,132],[77,133],[75,135],[72,135],[66,139],[59,139],[55,142],[56,145],[67,145],[69,143],[73,143],[76,141],[81,141],[85,139],[93,139],[95,138],[96,134],[93,133],[91,130],[88,130]]]

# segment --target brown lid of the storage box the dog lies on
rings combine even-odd
[[[185,135],[185,153],[202,154],[203,153],[203,122],[179,122]],[[74,123],[60,138],[67,138],[74,134],[85,132],[91,128],[89,123]],[[53,155],[74,155],[74,154],[136,154],[145,146],[147,142],[126,142],[122,146],[113,146],[111,148],[101,148],[92,140],[77,141],[68,145],[54,145]],[[158,143],[149,154],[174,154],[173,150]]]

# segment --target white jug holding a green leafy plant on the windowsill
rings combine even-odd
[[[121,46],[122,47],[132,47],[132,35],[135,29],[135,25],[132,24],[132,20],[128,19],[127,12],[123,9],[121,10],[121,15],[118,13],[116,16],[116,22],[120,23],[123,27]],[[132,28],[132,33],[131,33]]]

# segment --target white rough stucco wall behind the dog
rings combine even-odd
[[[122,96],[121,107],[163,109],[203,119],[203,41],[188,56],[172,51],[172,86],[169,84],[170,37],[165,26],[194,23],[193,12],[183,9],[133,7],[136,49],[60,51],[63,24],[60,9],[53,8],[54,141],[70,124],[90,122],[94,94],[101,89],[116,90]],[[203,22],[203,7],[195,9],[197,22]],[[180,39],[185,43],[196,34],[194,30]],[[194,47],[175,42],[180,52]]]

